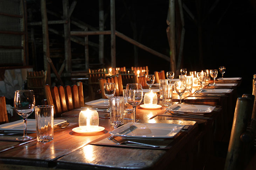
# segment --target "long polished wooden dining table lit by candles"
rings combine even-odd
[[[237,86],[218,87],[233,89],[224,95],[196,94],[195,90],[200,86],[194,87],[192,93],[182,95],[182,104],[215,106],[213,112],[202,117],[182,114],[175,116],[166,112],[161,99],[158,99],[158,104],[162,106],[159,109],[144,109],[138,105],[138,123],[186,125],[173,138],[142,140],[144,143],[159,145],[159,148],[117,145],[109,141],[109,132],[115,128],[110,125],[108,112],[98,111],[99,126],[104,127],[104,131],[94,134],[73,132],[72,129],[78,127],[79,112],[83,110],[78,108],[62,113],[62,117],[58,118],[67,120],[70,125],[56,128],[53,141],[37,142],[36,133],[30,133],[35,138],[27,142],[12,140],[16,135],[11,136],[12,139],[1,136],[0,169],[202,169],[207,158],[214,154],[214,141],[230,128],[236,89],[241,81],[236,83]],[[205,88],[213,86],[207,85]],[[173,94],[173,103],[178,101],[179,96]],[[133,114],[126,113],[124,123],[132,121]]]

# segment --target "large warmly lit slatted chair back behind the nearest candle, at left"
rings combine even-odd
[[[48,105],[54,105],[54,117],[61,117],[61,113],[84,106],[83,83],[77,82],[71,87],[69,85],[44,86]]]

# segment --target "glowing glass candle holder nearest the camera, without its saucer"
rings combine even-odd
[[[99,126],[99,114],[96,110],[82,110],[78,122],[82,131],[90,131],[92,127]]]

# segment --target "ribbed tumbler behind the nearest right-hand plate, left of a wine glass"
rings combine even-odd
[[[112,126],[124,124],[124,97],[114,96],[109,98],[110,123]]]

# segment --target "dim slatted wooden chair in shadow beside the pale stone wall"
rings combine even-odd
[[[27,72],[27,88],[34,91],[36,103],[44,97],[44,85],[46,83],[47,71]]]

